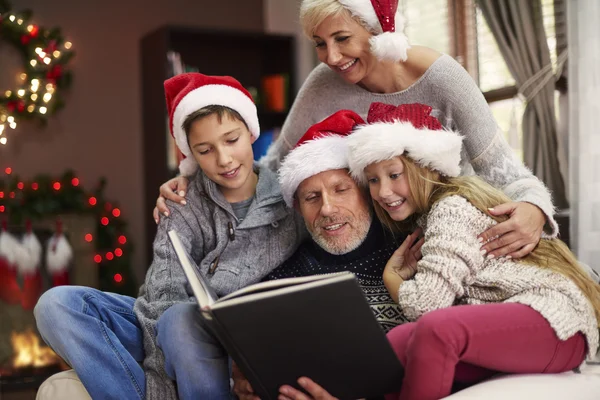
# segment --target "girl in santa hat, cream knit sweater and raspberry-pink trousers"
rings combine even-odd
[[[462,138],[430,111],[374,104],[371,124],[348,138],[350,171],[384,225],[424,235],[416,269],[403,260],[408,240],[384,270],[390,295],[416,321],[388,333],[406,368],[401,392],[388,397],[439,399],[497,372],[579,366],[598,349],[600,286],[558,239],[520,260],[480,251],[480,233],[505,219],[489,207],[508,199],[458,177]]]

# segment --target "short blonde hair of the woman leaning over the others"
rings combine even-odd
[[[311,40],[323,21],[340,15],[355,20],[371,32],[365,21],[353,16],[338,0],[302,0],[300,5],[300,25],[304,34]]]

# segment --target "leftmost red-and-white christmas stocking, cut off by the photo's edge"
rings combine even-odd
[[[0,231],[0,300],[16,304],[21,301],[21,288],[17,283],[16,256],[21,244],[2,222]]]

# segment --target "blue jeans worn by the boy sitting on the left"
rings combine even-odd
[[[93,399],[145,397],[144,347],[134,302],[89,287],[58,286],[35,307],[42,338],[77,372]],[[159,320],[166,372],[177,380],[182,400],[228,399],[227,354],[200,329],[197,309],[195,303],[179,304]]]

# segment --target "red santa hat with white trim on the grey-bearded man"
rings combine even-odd
[[[348,168],[346,137],[358,124],[364,124],[360,115],[341,110],[311,126],[300,138],[279,169],[281,193],[289,207],[294,205],[294,193],[305,179]]]

